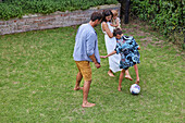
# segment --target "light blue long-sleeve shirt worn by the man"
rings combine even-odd
[[[76,34],[73,58],[75,61],[92,62],[89,56],[94,53],[97,62],[100,63],[97,33],[89,23],[83,24]]]

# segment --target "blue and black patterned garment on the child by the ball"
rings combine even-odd
[[[122,36],[121,39],[116,39],[115,51],[121,54],[120,69],[127,70],[130,66],[140,63],[138,47],[132,36]]]

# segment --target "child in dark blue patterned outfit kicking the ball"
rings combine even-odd
[[[114,51],[112,51],[107,56],[101,56],[100,58],[108,58],[115,53],[121,54],[120,69],[123,70],[120,73],[119,88],[118,88],[118,90],[121,91],[122,81],[123,81],[125,70],[127,70],[130,66],[134,66],[136,72],[136,84],[139,84],[137,64],[140,63],[139,61],[140,54],[138,52],[138,50],[140,50],[140,47],[137,45],[137,42],[132,36],[123,36],[123,33],[120,28],[114,29],[113,36],[115,36],[116,38],[116,47]]]

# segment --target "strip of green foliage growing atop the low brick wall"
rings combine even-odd
[[[90,7],[118,3],[116,0],[3,0],[0,20],[21,17],[24,14],[49,14],[55,11],[86,10]]]

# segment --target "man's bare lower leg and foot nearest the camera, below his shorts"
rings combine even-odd
[[[90,89],[90,84],[91,84],[91,81],[85,81],[85,83],[84,83],[83,104],[82,104],[83,108],[95,106],[95,103],[90,103],[90,102],[87,101],[88,93],[89,93],[89,89]]]

